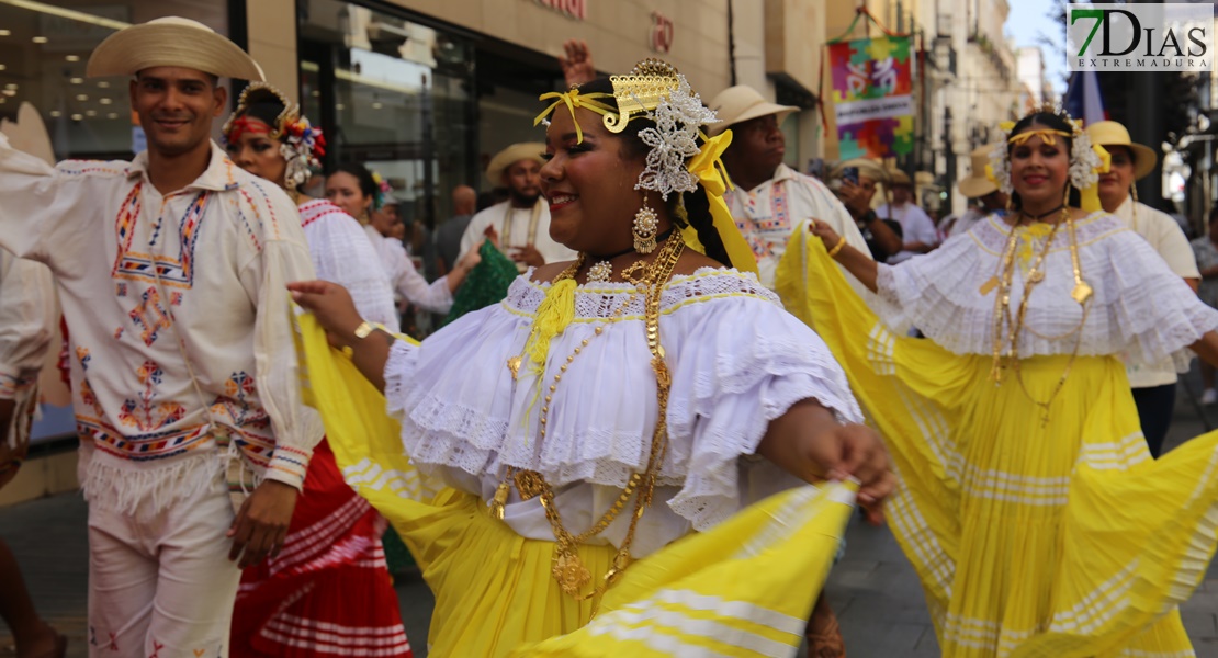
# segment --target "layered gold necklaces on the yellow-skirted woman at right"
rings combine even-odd
[[[1027,215],[1021,213],[1021,218],[1022,216]],[[1004,371],[1007,367],[1015,371],[1016,381],[1018,381],[1019,388],[1029,400],[1041,409],[1041,421],[1047,422],[1049,407],[1061,392],[1062,387],[1066,384],[1066,378],[1069,377],[1071,369],[1074,366],[1074,360],[1078,356],[1078,350],[1083,341],[1083,326],[1086,324],[1086,317],[1090,311],[1093,291],[1091,286],[1083,280],[1083,269],[1079,264],[1078,255],[1078,236],[1074,231],[1074,218],[1071,215],[1069,208],[1063,206],[1061,219],[1050,229],[1044,244],[1040,247],[1040,253],[1035,255],[1035,260],[1033,260],[1032,266],[1024,276],[1023,294],[1021,296],[1019,305],[1016,311],[1012,313],[1011,287],[1015,279],[1016,252],[1018,251],[1019,242],[1018,224],[1019,220],[1016,220],[1016,224],[1011,226],[1011,234],[1007,237],[1006,247],[1002,249],[1002,259],[999,261],[999,272],[990,277],[980,287],[980,293],[983,296],[989,294],[990,291],[998,288],[998,294],[994,298],[993,364],[990,366],[990,378],[995,384],[1001,384]],[[1074,288],[1071,292],[1071,297],[1074,302],[1083,306],[1083,315],[1078,325],[1075,325],[1071,331],[1057,336],[1044,336],[1037,333],[1026,324],[1028,314],[1028,298],[1032,296],[1032,291],[1045,280],[1045,257],[1049,255],[1054,238],[1057,236],[1057,231],[1062,224],[1066,225],[1066,230],[1069,234],[1069,255],[1074,274]],[[1050,392],[1049,398],[1045,400],[1038,400],[1032,395],[1028,387],[1023,382],[1023,375],[1019,369],[1019,336],[1026,328],[1028,332],[1050,341],[1060,341],[1074,334],[1074,349],[1071,352],[1069,360],[1066,362],[1066,367],[1062,371],[1061,377],[1057,379],[1057,383]]]

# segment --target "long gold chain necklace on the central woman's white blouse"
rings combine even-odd
[[[551,529],[554,533],[554,558],[551,573],[558,581],[563,592],[574,597],[576,601],[585,601],[600,596],[614,583],[616,583],[616,580],[621,577],[621,573],[630,566],[630,547],[635,541],[635,532],[638,527],[638,521],[643,517],[643,512],[652,504],[660,465],[664,462],[664,457],[667,452],[667,406],[669,389],[672,386],[672,377],[669,372],[667,364],[664,361],[664,348],[660,345],[660,297],[664,291],[664,283],[667,282],[669,277],[672,275],[672,270],[683,251],[685,241],[681,240],[680,234],[674,234],[672,237],[665,241],[660,253],[657,254],[657,258],[649,265],[643,260],[638,260],[633,265],[626,268],[622,271],[622,277],[633,283],[636,289],[613,314],[613,317],[616,317],[639,293],[644,296],[643,315],[647,327],[647,347],[652,352],[652,370],[655,371],[659,416],[655,422],[655,431],[652,434],[652,445],[647,459],[647,467],[643,472],[632,473],[630,479],[626,482],[626,487],[622,489],[621,494],[609,510],[591,528],[580,534],[572,534],[563,525],[558,506],[554,504],[554,489],[548,482],[546,482],[546,478],[536,471],[518,469],[509,466],[503,479],[499,482],[499,485],[496,488],[495,497],[491,501],[492,516],[502,519],[503,508],[507,505],[508,494],[513,484],[520,494],[521,500],[531,500],[533,497],[540,500],[542,508],[546,512],[546,521],[549,522]],[[554,282],[564,279],[572,279],[582,263],[583,258],[581,254],[581,258],[559,274],[559,276],[554,279]],[[594,336],[599,336],[603,332],[603,326],[597,327]],[[540,434],[542,439],[546,438],[546,424],[549,420],[549,404],[553,401],[554,392],[558,390],[558,386],[563,381],[563,375],[566,373],[568,366],[571,365],[575,358],[583,352],[583,348],[587,345],[588,338],[585,338],[566,358],[566,361],[559,366],[558,372],[554,373],[538,417],[541,426]],[[520,356],[513,358],[513,360],[516,360],[518,362]],[[613,558],[613,566],[604,574],[599,585],[590,592],[583,592],[582,590],[588,585],[588,583],[591,583],[592,575],[588,573],[587,567],[580,558],[577,547],[608,529],[626,507],[626,502],[628,502],[632,496],[635,497],[635,507],[631,514],[630,527],[626,530],[626,536],[622,539],[621,546],[618,549],[618,553]]]

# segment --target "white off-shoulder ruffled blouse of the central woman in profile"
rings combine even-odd
[[[530,277],[531,270],[505,300],[418,348],[397,342],[385,394],[402,422],[406,452],[425,476],[490,501],[505,466],[538,471],[555,489],[564,524],[580,533],[647,465],[659,405],[642,296],[628,300],[633,286],[626,283],[580,286],[575,320],[552,339],[541,382],[527,359],[513,381],[507,360],[521,353],[549,288]],[[615,317],[624,303],[630,305]],[[585,339],[553,393],[542,440],[538,390],[548,392]],[[843,421],[861,420],[825,343],[752,274],[704,268],[674,277],[661,297],[660,343],[672,375],[669,449],[636,532],[636,557],[798,484],[769,461],[742,459],[793,404],[816,399]],[[632,505],[598,540],[620,546]],[[537,499],[521,501],[515,490],[505,521],[521,536],[554,539]]]

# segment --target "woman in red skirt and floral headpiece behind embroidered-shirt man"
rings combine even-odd
[[[322,131],[279,90],[253,83],[224,124],[224,139],[234,163],[295,197],[317,275],[350,289],[364,317],[396,330],[389,277],[359,223],[297,191],[323,154]],[[283,550],[241,574],[233,654],[412,656],[385,568],[384,530],[384,518],[343,482],[323,439]]]

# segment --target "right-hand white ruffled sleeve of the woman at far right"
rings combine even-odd
[[[1218,311],[1207,306],[1140,236],[1130,231],[1107,241],[1104,315],[1112,341],[1132,362],[1153,365],[1168,356],[1188,372],[1196,343],[1218,330]]]

